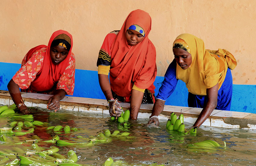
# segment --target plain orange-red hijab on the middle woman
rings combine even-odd
[[[144,39],[134,46],[129,45],[125,37],[126,30],[131,25],[139,25],[145,32]],[[154,93],[156,51],[148,39],[150,30],[149,14],[140,9],[132,11],[111,46],[110,83],[111,89],[118,96],[129,98],[133,84]]]

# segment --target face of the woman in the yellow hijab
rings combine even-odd
[[[174,48],[173,49],[174,59],[177,64],[183,69],[189,68],[192,63],[192,56],[183,49]]]

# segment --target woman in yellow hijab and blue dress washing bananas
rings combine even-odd
[[[234,56],[225,49],[206,50],[202,39],[187,33],[175,39],[173,54],[148,124],[159,125],[157,116],[178,80],[186,83],[189,107],[203,108],[193,126],[201,126],[214,109],[229,111],[233,86],[230,69],[237,64]]]

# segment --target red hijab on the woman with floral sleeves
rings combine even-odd
[[[64,59],[64,61],[62,61],[60,64],[56,65],[52,63],[52,59],[50,57],[50,47],[52,44],[53,39],[60,35],[65,33],[67,36],[70,37],[71,39],[71,48],[68,52],[67,57]],[[70,33],[68,33],[67,31],[64,30],[57,30],[55,31],[49,42],[48,45],[38,45],[32,49],[29,50],[29,52],[26,55],[26,59],[25,61],[27,62],[31,56],[33,55],[34,52],[36,52],[39,49],[45,48],[46,47],[46,51],[44,53],[44,61],[42,65],[41,70],[36,74],[36,79],[33,80],[33,82],[31,82],[30,86],[32,87],[33,90],[35,91],[48,91],[51,90],[53,88],[53,86],[55,86],[56,83],[58,83],[61,74],[63,73],[63,71],[66,69],[70,56],[71,56],[71,51],[72,51],[72,47],[73,47],[73,38],[72,35]]]

